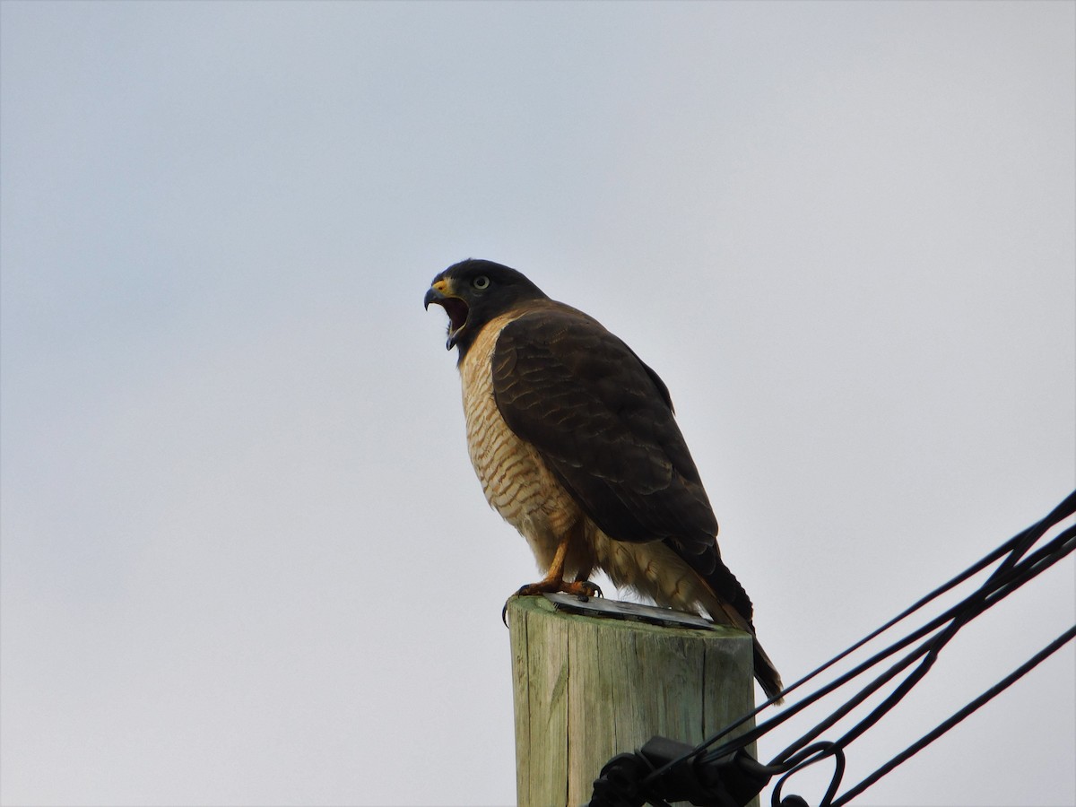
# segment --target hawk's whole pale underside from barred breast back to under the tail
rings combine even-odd
[[[636,591],[659,605],[699,612],[726,622],[724,611],[698,576],[661,541],[627,543],[610,539],[556,480],[539,453],[508,427],[493,395],[493,352],[500,330],[520,314],[491,321],[459,366],[467,450],[486,500],[515,527],[544,575],[566,532],[575,536],[565,578],[601,569],[619,587]]]

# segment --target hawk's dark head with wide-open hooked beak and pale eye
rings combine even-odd
[[[549,299],[521,272],[492,260],[469,258],[453,264],[434,278],[423,300],[436,302],[449,315],[449,340],[444,346],[463,354],[482,326],[528,300]]]

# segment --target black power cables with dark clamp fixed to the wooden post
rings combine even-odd
[[[691,801],[692,804],[703,807],[708,805],[738,807],[753,798],[774,776],[780,777],[771,796],[774,807],[806,807],[806,802],[799,796],[791,795],[782,798],[781,790],[795,773],[807,765],[826,759],[834,761],[834,773],[819,807],[839,807],[848,804],[1076,637],[1076,626],[1074,626],[858,784],[838,795],[848,747],[876,725],[916,684],[925,678],[946,645],[976,618],[1076,550],[1076,526],[1061,529],[1049,540],[1046,540],[1043,546],[1035,549],[1036,544],[1043,541],[1051,530],[1054,530],[1074,513],[1076,513],[1076,492],[1067,496],[1045,519],[1028,527],[982,560],[920,598],[848,650],[838,653],[821,667],[793,683],[781,694],[788,695],[801,689],[929,603],[996,563],[997,567],[988,579],[971,594],[925,624],[893,641],[883,650],[876,652],[848,672],[838,676],[834,681],[821,686],[798,703],[782,710],[780,714],[754,728],[734,739],[721,741],[773,705],[774,700],[766,702],[699,746],[692,747],[655,737],[636,754],[620,754],[613,758],[603,768],[601,775],[595,781],[594,797],[591,799],[590,807],[626,807],[628,805],[638,807],[643,803],[662,807],[667,804],[667,801]],[[830,696],[908,648],[911,650],[905,652],[884,671],[838,705],[821,722],[782,750],[768,764],[756,762],[747,752],[747,748],[760,737],[792,720],[809,706]],[[892,682],[895,682],[892,691],[843,736],[836,740],[820,739],[826,731]]]

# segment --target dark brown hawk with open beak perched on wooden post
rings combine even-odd
[[[751,600],[718,550],[718,522],[657,373],[597,321],[523,274],[464,260],[425,305],[449,315],[459,351],[467,448],[490,505],[544,579],[520,594],[618,586],[754,636]],[[758,639],[766,695],[781,679]]]

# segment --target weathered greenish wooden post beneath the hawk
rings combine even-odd
[[[520,807],[584,805],[612,756],[655,734],[702,742],[754,708],[741,631],[563,594],[514,597],[508,620]]]

